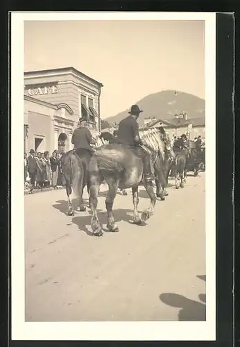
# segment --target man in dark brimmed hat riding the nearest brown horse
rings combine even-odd
[[[148,182],[154,180],[154,176],[151,170],[151,155],[139,148],[142,145],[142,140],[139,137],[139,126],[137,119],[140,113],[143,112],[139,109],[138,105],[132,105],[130,115],[119,123],[118,143],[126,145],[132,149],[140,149],[142,158],[144,160],[144,175]]]

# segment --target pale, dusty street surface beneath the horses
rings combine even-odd
[[[131,223],[130,189],[118,194],[120,231],[100,238],[88,209],[67,216],[65,189],[24,196],[26,321],[204,321],[205,174],[178,190],[170,179],[168,192],[146,226]],[[144,187],[139,196],[141,212]]]

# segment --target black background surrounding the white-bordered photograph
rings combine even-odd
[[[8,1],[1,2],[1,76],[0,76],[0,144],[1,144],[1,166],[0,166],[0,269],[1,269],[1,304],[0,304],[0,347],[5,347],[8,344],[8,242],[10,240],[10,223],[8,220],[8,178],[10,168],[8,167],[8,159],[10,158],[10,116],[8,117],[8,11],[10,10],[144,10],[144,11],[227,11],[232,12],[237,9],[237,2],[218,2],[217,6],[214,3],[207,1]],[[217,8],[216,8],[217,7]],[[238,18],[238,13],[235,13]],[[236,39],[235,47],[239,52],[239,24],[236,21]],[[26,347],[26,346],[123,346],[123,345],[146,345],[146,346],[232,346],[235,342],[238,346],[240,341],[240,321],[239,311],[233,311],[233,289],[235,291],[236,303],[239,301],[240,285],[239,274],[236,271],[235,284],[233,287],[233,268],[239,269],[239,252],[237,244],[239,244],[239,215],[240,209],[235,201],[235,221],[233,219],[232,199],[237,199],[237,187],[235,187],[235,197],[233,192],[233,178],[235,181],[239,177],[239,165],[237,158],[239,156],[239,144],[237,134],[239,133],[239,113],[240,105],[238,96],[239,81],[235,78],[235,162],[236,170],[233,172],[233,155],[234,155],[234,117],[232,115],[232,91],[233,91],[233,42],[234,42],[234,19],[232,15],[218,14],[217,16],[217,48],[216,48],[216,281],[217,281],[217,310],[216,324],[217,334],[216,341],[196,341],[196,342],[120,342],[120,341],[10,341],[10,346]],[[144,46],[144,42],[143,42]],[[237,59],[237,58],[236,58]],[[239,68],[237,60],[235,62],[236,73]],[[19,149],[12,149],[19,151]],[[19,151],[22,155],[23,151]],[[235,183],[237,185],[237,183]],[[233,263],[233,226],[235,222],[235,264]],[[234,322],[235,314],[235,322]],[[235,330],[234,325],[235,323]],[[94,337],[94,331],[93,337]],[[123,332],[124,333],[124,332]],[[173,332],[174,335],[174,332]],[[44,339],[44,336],[43,336]]]

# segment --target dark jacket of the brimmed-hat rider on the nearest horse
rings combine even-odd
[[[135,137],[139,136],[139,126],[135,117],[128,116],[119,123],[118,142],[136,146]]]

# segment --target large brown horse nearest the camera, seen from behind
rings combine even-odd
[[[77,174],[80,178],[80,170],[78,170]],[[103,235],[102,226],[98,220],[96,211],[98,205],[98,189],[101,183],[103,183],[103,180],[108,184],[108,196],[105,200],[105,206],[108,212],[108,231],[119,231],[112,213],[112,206],[118,189],[132,188],[134,223],[142,223],[142,220],[146,221],[153,215],[156,196],[153,191],[153,183],[147,183],[144,178],[142,157],[135,150],[119,144],[103,146],[94,153],[89,163],[89,205],[93,213],[92,231],[94,235]],[[142,181],[151,199],[151,204],[148,210],[142,212],[142,217],[139,217],[137,211],[139,203],[138,186]],[[79,180],[79,182],[81,185],[82,181]],[[79,189],[81,191],[82,187],[78,187],[78,191]]]

